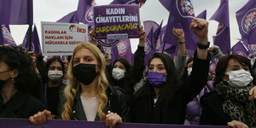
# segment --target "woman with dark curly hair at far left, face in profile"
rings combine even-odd
[[[44,105],[30,95],[36,82],[32,58],[24,49],[0,46],[0,118],[27,119],[44,110]]]

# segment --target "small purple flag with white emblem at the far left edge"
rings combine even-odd
[[[16,46],[15,40],[9,30],[9,26],[1,25],[0,44]]]

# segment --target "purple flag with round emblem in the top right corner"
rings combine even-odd
[[[256,44],[256,1],[249,0],[236,12],[241,39],[246,44]]]

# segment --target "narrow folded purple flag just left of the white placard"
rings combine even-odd
[[[32,32],[32,46],[33,46],[33,50],[34,50],[35,54],[42,53],[40,41],[38,38],[38,29],[37,29],[36,25],[34,25],[34,30]]]

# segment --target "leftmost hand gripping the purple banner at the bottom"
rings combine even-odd
[[[48,110],[44,110],[43,112],[38,112],[33,116],[29,117],[29,121],[35,125],[44,125],[47,119],[52,119],[52,114]]]

